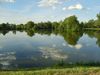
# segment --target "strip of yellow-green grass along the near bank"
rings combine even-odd
[[[35,71],[0,71],[0,75],[100,75],[100,67],[74,67]]]

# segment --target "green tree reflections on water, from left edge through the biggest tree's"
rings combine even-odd
[[[9,33],[10,31],[5,30],[5,31],[0,31],[1,34],[6,35],[7,33]],[[12,31],[13,34],[16,34],[17,31]],[[41,35],[51,35],[51,34],[55,34],[55,35],[60,35],[64,38],[64,40],[71,45],[76,45],[77,41],[82,37],[83,32],[57,32],[57,31],[53,31],[53,30],[38,30],[38,31],[34,31],[34,30],[24,30],[24,31],[20,31],[20,32],[26,32],[28,36],[32,37],[34,36],[35,33],[41,34]]]

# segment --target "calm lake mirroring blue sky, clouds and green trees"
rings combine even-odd
[[[0,69],[100,62],[100,32],[0,31]]]

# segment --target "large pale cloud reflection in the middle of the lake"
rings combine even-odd
[[[65,60],[68,58],[68,55],[62,53],[62,50],[49,48],[49,47],[39,47],[42,52],[42,57],[45,59],[52,58],[53,60]]]

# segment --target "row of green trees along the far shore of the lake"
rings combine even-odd
[[[97,14],[97,19],[91,19],[88,22],[79,22],[75,15],[65,18],[60,22],[40,22],[34,23],[29,21],[26,24],[0,24],[0,30],[62,30],[62,31],[79,31],[85,28],[100,28],[100,13]]]

